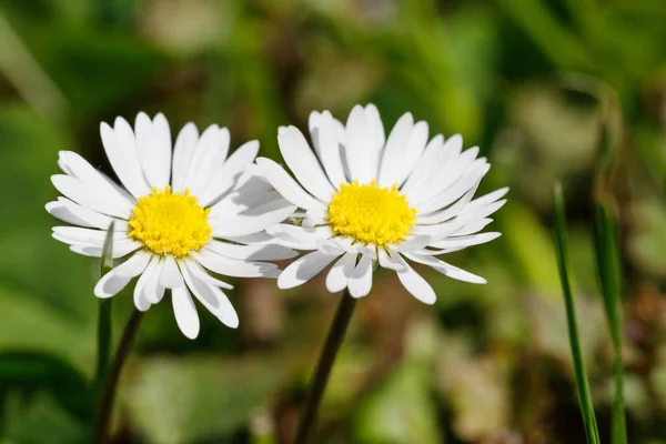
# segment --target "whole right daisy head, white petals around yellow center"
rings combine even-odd
[[[258,173],[302,209],[301,226],[283,223],[268,232],[282,245],[311,251],[282,272],[281,289],[303,284],[334,261],[326,287],[347,287],[354,297],[370,292],[375,261],[427,304],[435,292],[406,260],[461,281],[486,282],[436,258],[500,236],[478,233],[507,192],[473,200],[490,169],[486,159],[477,159],[478,148],[462,151],[458,134],[428,142],[427,123],[414,123],[411,113],[386,140],[372,104],[356,105],[346,125],[327,111],[313,112],[310,134],[314,150],[295,127],[279,131],[280,150],[296,180],[278,163],[256,160]]]

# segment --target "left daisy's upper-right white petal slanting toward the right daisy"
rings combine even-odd
[[[211,174],[204,191],[200,194],[199,202],[209,206],[216,201],[225,191],[231,189],[243,173],[245,167],[251,164],[259,153],[259,142],[252,140],[241,145],[224,162],[220,171]]]

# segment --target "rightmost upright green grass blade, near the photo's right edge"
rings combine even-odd
[[[606,320],[613,340],[615,394],[610,426],[610,443],[626,444],[627,431],[624,401],[624,364],[622,361],[619,230],[610,198],[602,198],[596,208],[595,246],[599,284],[604,296]]]

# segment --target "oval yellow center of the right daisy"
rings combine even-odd
[[[397,191],[377,186],[375,181],[341,184],[329,204],[329,223],[333,232],[364,244],[384,246],[400,243],[416,222],[416,210]]]

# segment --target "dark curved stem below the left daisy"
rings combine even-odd
[[[115,353],[115,360],[111,366],[111,372],[104,387],[104,394],[100,402],[99,416],[97,427],[94,431],[94,443],[105,444],[108,442],[109,423],[111,421],[111,413],[113,410],[113,400],[115,397],[115,387],[120,379],[120,372],[122,371],[123,364],[130,354],[132,342],[139,331],[139,325],[143,319],[143,313],[134,309],[128,324],[122,332],[120,344],[118,345],[118,352]]]

